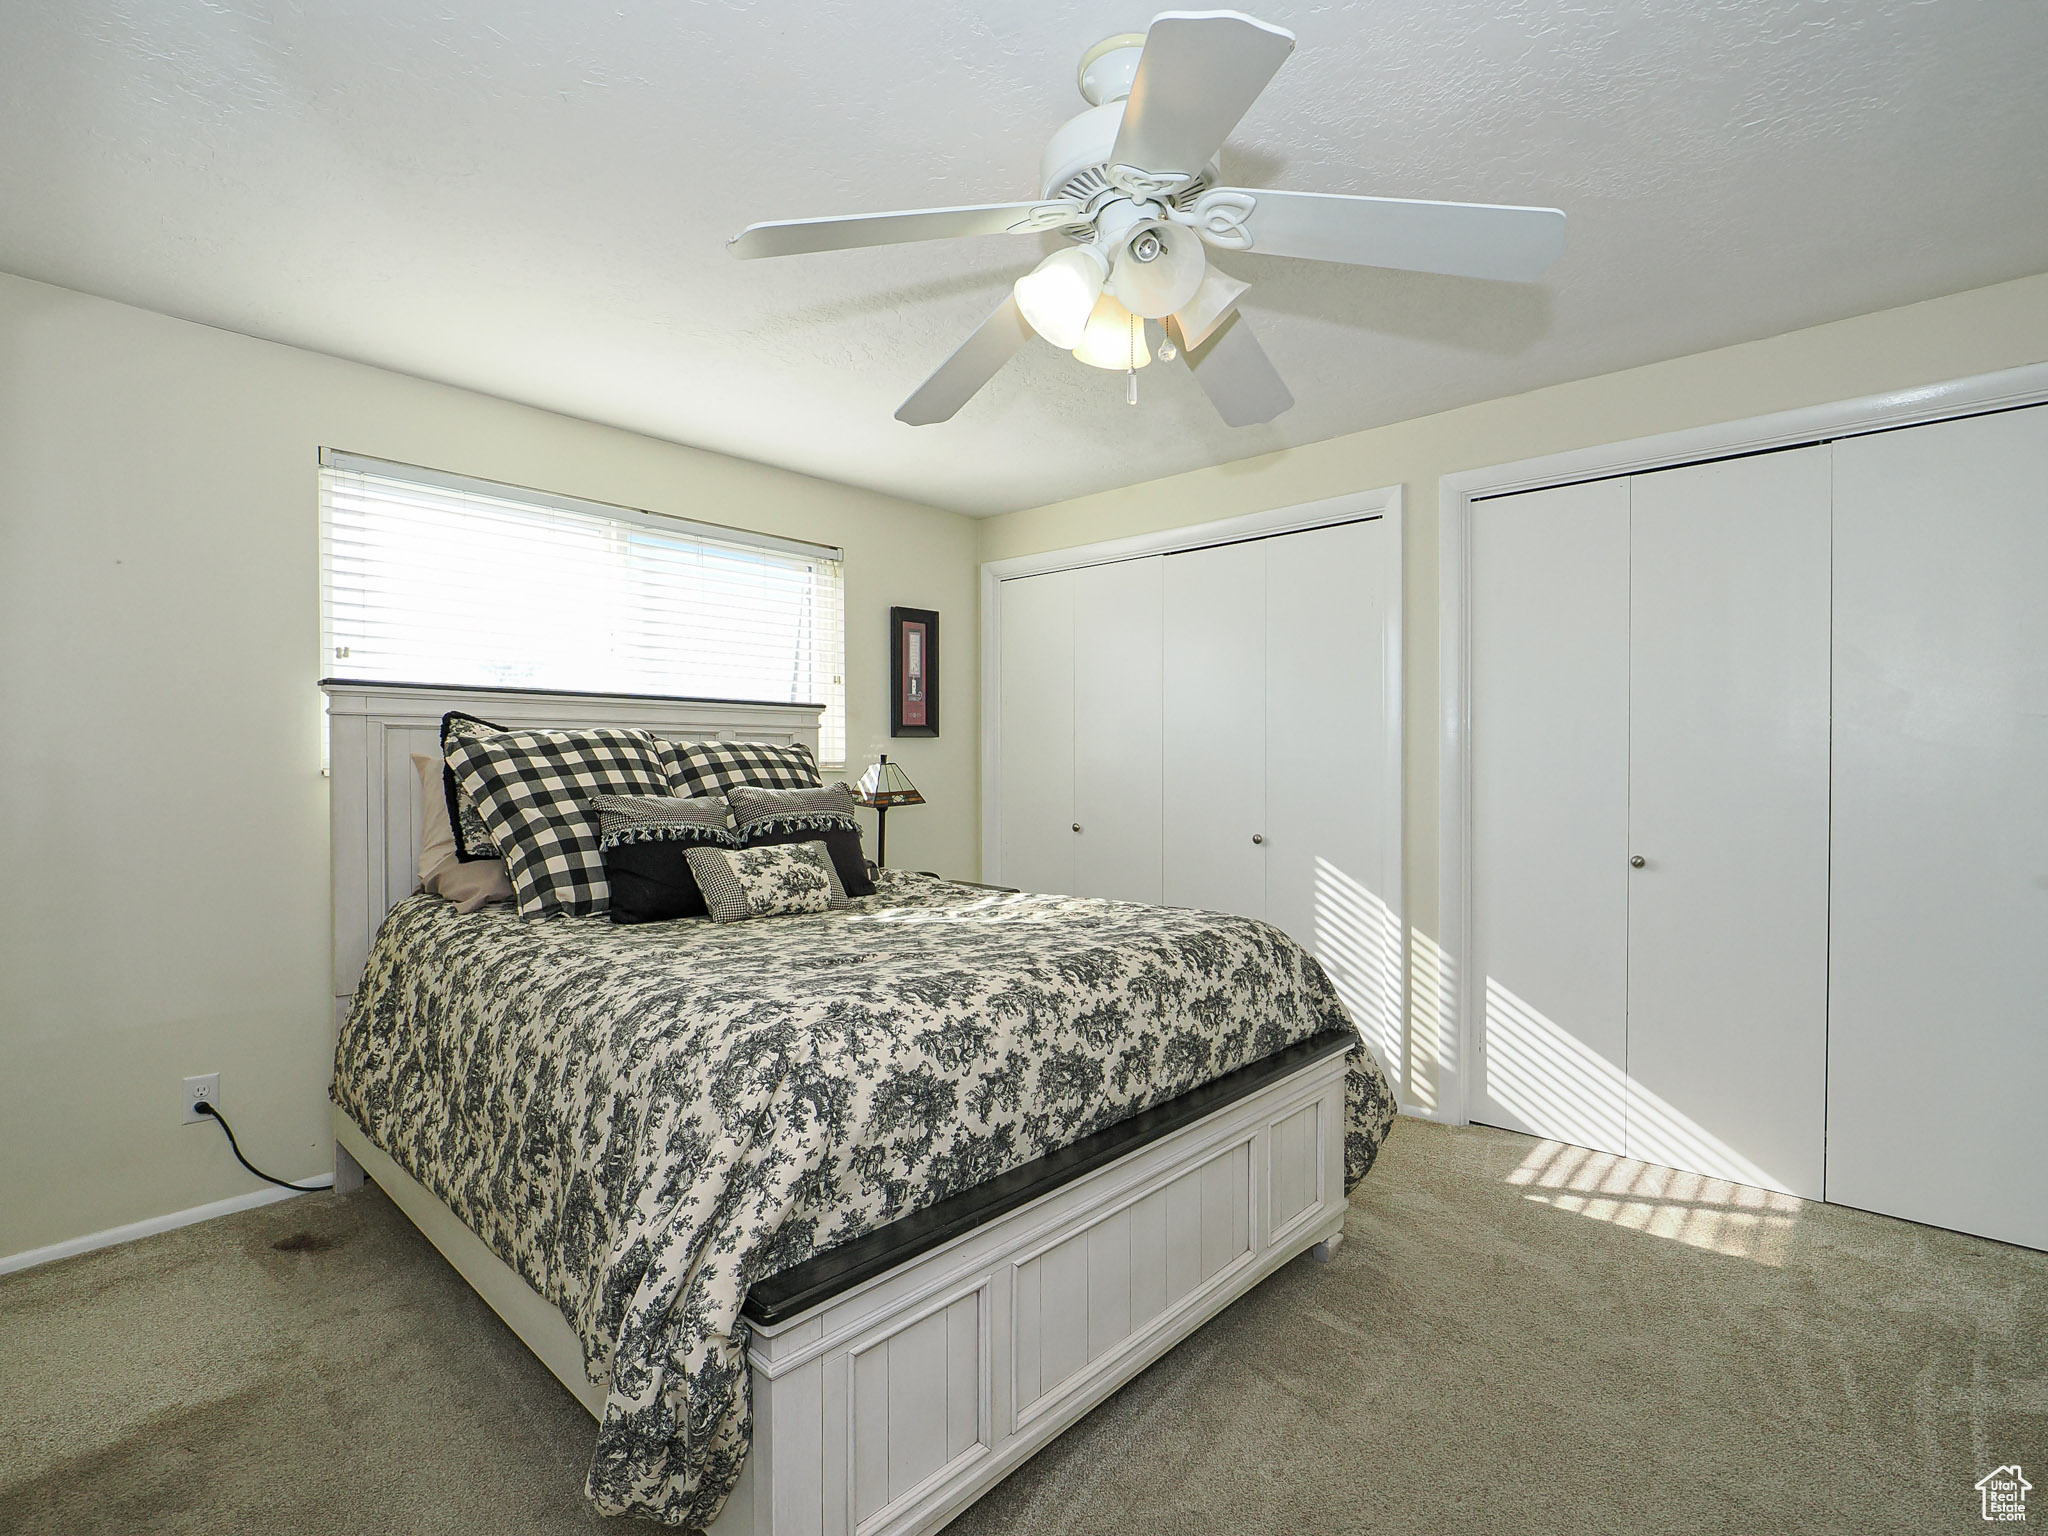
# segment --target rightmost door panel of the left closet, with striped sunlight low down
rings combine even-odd
[[[1266,920],[1323,963],[1389,1071],[1401,1067],[1399,596],[1384,520],[1266,541]]]

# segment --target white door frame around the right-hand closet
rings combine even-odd
[[[1896,389],[1884,395],[1802,406],[1798,410],[1714,422],[1679,432],[1608,442],[1591,449],[1518,459],[1485,469],[1462,469],[1438,481],[1438,913],[1436,946],[1411,942],[1409,989],[1434,989],[1434,1008],[1421,1010],[1411,995],[1411,1026],[1425,1014],[1438,1026],[1438,1112],[1454,1124],[1470,1122],[1477,1040],[1475,989],[1460,981],[1466,971],[1485,975],[1485,956],[1473,936],[1473,735],[1470,696],[1470,547],[1473,504],[1518,492],[1552,489],[1589,479],[1616,479],[1651,469],[1733,459],[1780,449],[1806,449],[1835,438],[1892,432],[1903,426],[1958,416],[2019,410],[2048,403],[2048,362],[1980,373],[1937,385]],[[1432,975],[1425,975],[1434,971]]]

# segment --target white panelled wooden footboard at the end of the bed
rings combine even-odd
[[[911,1536],[1343,1227],[1343,1063],[868,1286],[754,1327],[754,1456],[713,1536]]]

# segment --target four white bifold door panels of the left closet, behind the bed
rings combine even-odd
[[[993,879],[1264,918],[1399,1073],[1399,528],[1020,575],[995,600]]]

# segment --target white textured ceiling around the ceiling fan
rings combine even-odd
[[[1034,197],[1147,6],[16,0],[0,268],[999,512],[2048,268],[2048,4],[1260,4],[1300,47],[1239,184],[1546,203],[1538,287],[1260,256],[1296,408],[1032,344],[897,401],[1044,236],[735,262],[754,219]]]

